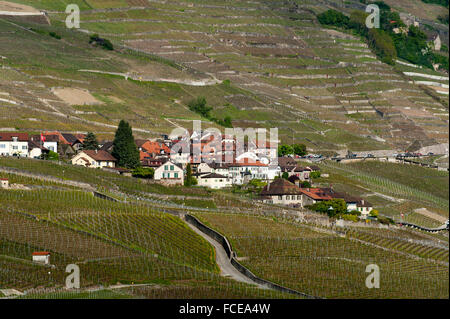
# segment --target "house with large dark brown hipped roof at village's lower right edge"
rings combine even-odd
[[[300,188],[284,178],[277,178],[267,184],[261,191],[261,199],[265,203],[281,205],[302,205],[302,192]]]

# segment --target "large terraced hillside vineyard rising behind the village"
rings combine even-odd
[[[317,151],[448,141],[445,98],[439,102],[409,83],[405,69],[378,61],[359,38],[318,24],[316,14],[333,1],[80,1],[81,28],[112,40],[115,52],[92,48],[86,35],[66,30],[65,2],[14,2],[48,10],[52,22],[34,26],[44,31],[35,34],[0,21],[4,39],[12,32],[29,47],[39,40],[43,51],[30,68],[22,62],[28,50],[16,52],[13,42],[2,41],[7,59],[0,74],[7,80],[1,91],[12,103],[3,108],[21,114],[14,125],[22,129],[40,130],[30,119],[45,117],[41,123],[51,129],[89,124],[110,136],[108,125],[125,118],[141,129],[136,134],[167,133],[200,118],[186,104],[204,95],[217,118],[278,127],[283,140]],[[50,30],[63,40],[46,37]],[[89,90],[99,103],[69,105],[53,94],[61,86]],[[68,120],[50,119],[55,112]],[[11,123],[8,112],[2,116]]]

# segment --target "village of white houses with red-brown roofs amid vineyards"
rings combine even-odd
[[[238,154],[234,137],[221,136],[218,145],[212,143],[213,136],[209,133],[202,132],[200,136],[194,136],[195,134],[191,133],[184,139],[168,135],[156,139],[133,138],[139,163],[131,167],[123,163],[121,165],[114,157],[113,141],[97,142],[92,133],[86,135],[46,131],[29,135],[1,132],[0,156],[64,160],[72,165],[145,178],[164,186],[184,185],[231,190],[257,185],[256,198],[266,204],[299,209],[313,208],[332,217],[339,214],[336,208],[339,205],[336,204],[341,202],[345,208],[341,209],[339,217],[351,221],[377,217],[377,211],[368,201],[352,194],[337,192],[331,185],[315,186],[314,180],[321,176],[321,170],[313,162],[300,165],[294,156],[279,156],[278,149],[270,145],[271,143],[251,147],[248,142],[245,145],[247,151]],[[198,141],[199,149],[209,147],[209,152],[195,154],[195,143],[198,144]],[[181,149],[179,152],[171,152],[174,145],[183,143],[189,145],[184,152]],[[7,187],[8,181],[3,179],[2,188]],[[326,205],[325,211],[319,203]],[[333,210],[336,211],[333,213]]]

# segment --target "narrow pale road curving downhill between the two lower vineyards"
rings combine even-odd
[[[211,245],[214,246],[214,249],[216,251],[216,263],[220,268],[220,275],[223,277],[233,278],[236,281],[240,281],[246,284],[252,284],[256,285],[259,288],[262,289],[268,289],[266,286],[260,285],[253,280],[250,280],[249,278],[245,277],[243,274],[241,274],[236,268],[233,267],[231,264],[230,259],[227,256],[227,253],[223,249],[223,247],[213,238],[209,237],[199,229],[197,229],[195,226],[191,225],[190,223],[186,223],[194,232],[202,236],[206,241],[208,241]]]

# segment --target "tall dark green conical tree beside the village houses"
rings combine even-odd
[[[117,159],[119,167],[134,169],[141,164],[139,150],[134,142],[133,131],[130,124],[124,120],[120,121],[116,130],[112,156]]]

